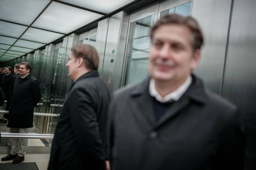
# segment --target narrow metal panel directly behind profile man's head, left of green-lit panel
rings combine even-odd
[[[109,21],[109,18],[106,18],[98,22],[97,37],[95,42],[95,48],[100,55],[100,63],[98,68],[100,77],[102,75],[102,67],[103,67],[103,61],[104,61],[104,55],[105,55],[107,33],[108,33],[108,21]]]

